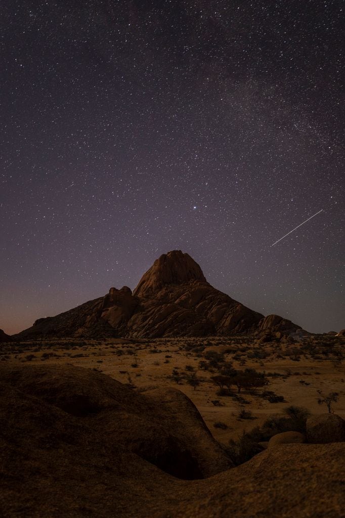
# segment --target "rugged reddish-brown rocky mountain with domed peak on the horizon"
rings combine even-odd
[[[186,253],[161,255],[141,277],[136,289],[110,288],[59,315],[37,320],[16,339],[38,337],[215,336],[269,330],[293,332],[299,328],[277,315],[264,318],[211,286],[200,266]]]

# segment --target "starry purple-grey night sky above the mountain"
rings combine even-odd
[[[0,328],[174,249],[251,309],[344,328],[342,7],[2,0]]]

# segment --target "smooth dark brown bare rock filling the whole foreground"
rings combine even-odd
[[[181,480],[147,462],[142,452],[140,456],[133,453],[139,434],[135,419],[145,422],[155,416],[157,449],[157,434],[162,431],[164,435],[168,422],[171,435],[176,427],[174,437],[180,448],[184,433],[189,451],[192,442],[196,443],[199,466],[203,462],[210,466],[212,459],[217,465],[218,448],[209,441],[188,398],[130,393],[115,380],[76,367],[21,366],[11,371],[1,366],[0,371],[4,518],[343,515],[344,443],[281,444],[210,478]],[[122,419],[132,420],[126,444],[121,438]],[[156,425],[160,419],[161,429]],[[147,435],[144,429],[142,439]]]

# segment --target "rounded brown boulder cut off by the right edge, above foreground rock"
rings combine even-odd
[[[345,442],[345,421],[337,414],[312,415],[307,419],[307,439],[314,444]]]

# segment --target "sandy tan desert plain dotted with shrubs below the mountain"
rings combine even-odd
[[[311,354],[303,350],[303,344],[258,344],[246,338],[183,338],[156,340],[49,340],[0,344],[0,361],[15,365],[18,362],[32,364],[71,364],[97,369],[119,380],[131,383],[134,390],[146,391],[157,386],[179,389],[194,402],[208,428],[218,441],[226,444],[237,439],[243,430],[260,426],[269,415],[281,413],[290,405],[303,406],[311,413],[324,413],[325,405],[318,404],[318,390],[323,394],[337,392],[335,413],[345,419],[345,340],[327,335],[308,339]],[[320,344],[323,346],[320,349]],[[291,347],[294,350],[291,350]],[[188,350],[188,349],[193,350]],[[196,348],[196,350],[195,350]],[[236,369],[254,368],[260,372],[276,373],[268,377],[265,390],[284,396],[285,401],[270,403],[260,397],[262,389],[254,395],[244,391],[241,396],[247,401],[239,404],[231,396],[216,394],[218,387],[210,380],[217,370],[201,370],[199,362],[205,360],[205,352],[224,352],[226,362],[232,361]],[[318,354],[313,352],[318,349]],[[296,350],[300,353],[296,354]],[[264,352],[265,358],[252,358],[254,353]],[[320,353],[321,351],[321,353]],[[339,353],[340,351],[340,353]],[[336,352],[336,354],[334,354]],[[234,359],[235,357],[235,359]],[[296,359],[298,358],[298,359]],[[187,370],[186,370],[186,366]],[[194,390],[184,375],[196,372],[200,384]],[[182,379],[171,379],[172,370]],[[277,376],[280,375],[280,376]],[[234,394],[237,389],[234,388]],[[212,401],[219,401],[217,406]],[[252,419],[239,420],[238,413],[245,408]],[[223,423],[225,429],[214,427]]]

